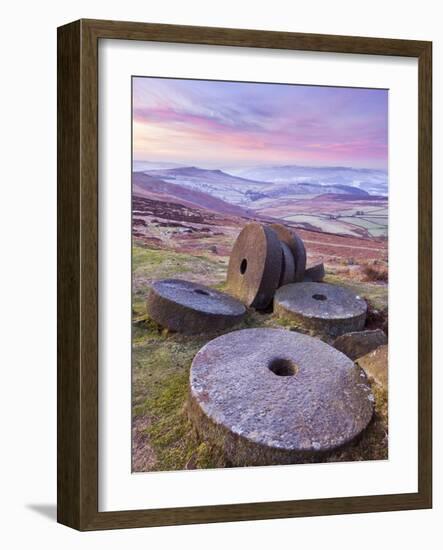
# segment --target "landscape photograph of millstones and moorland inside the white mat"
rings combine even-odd
[[[132,471],[388,459],[387,89],[132,76]]]

